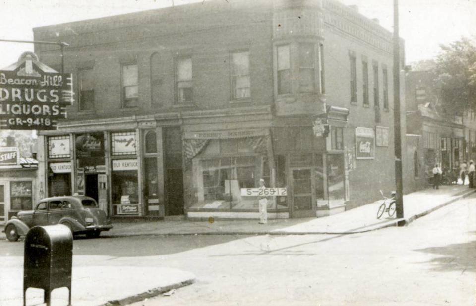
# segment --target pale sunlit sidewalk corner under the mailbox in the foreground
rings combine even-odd
[[[75,258],[73,257],[73,262]],[[23,266],[3,264],[0,269],[0,305],[23,304]],[[126,278],[125,278],[126,277]],[[138,267],[127,265],[73,265],[71,304],[74,306],[128,305],[157,296],[171,289],[192,284],[192,273],[166,267]],[[27,305],[43,303],[43,290],[27,290]],[[51,304],[67,305],[68,290],[52,292]]]

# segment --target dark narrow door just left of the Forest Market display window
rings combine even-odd
[[[165,214],[175,216],[183,214],[183,174],[182,169],[167,170],[167,203]]]

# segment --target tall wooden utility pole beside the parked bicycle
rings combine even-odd
[[[402,131],[400,119],[400,37],[398,29],[398,0],[393,0],[393,117],[395,134],[395,184],[397,218],[403,218]],[[400,224],[399,226],[403,225]],[[404,222],[402,222],[404,223]]]

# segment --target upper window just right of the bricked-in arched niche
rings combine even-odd
[[[193,100],[191,57],[176,59],[176,93],[178,103],[192,102]]]

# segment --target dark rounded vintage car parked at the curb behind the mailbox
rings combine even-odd
[[[99,237],[101,231],[113,228],[106,213],[93,198],[86,196],[62,196],[41,200],[35,210],[20,211],[6,224],[4,232],[9,241],[17,241],[36,225],[63,224],[73,235],[86,234]]]

